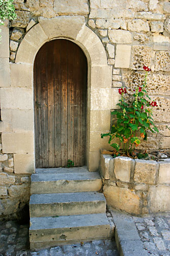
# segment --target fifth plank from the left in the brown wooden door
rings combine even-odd
[[[61,39],[61,158],[67,166],[67,40]]]

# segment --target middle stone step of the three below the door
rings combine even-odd
[[[34,194],[30,198],[31,217],[95,214],[105,211],[105,197],[98,192]]]

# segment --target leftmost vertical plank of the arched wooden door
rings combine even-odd
[[[41,73],[39,63],[41,54],[38,53],[34,63],[34,120],[35,120],[35,158],[36,168],[42,167],[41,147]]]

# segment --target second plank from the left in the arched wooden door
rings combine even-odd
[[[47,44],[41,49],[41,132],[42,167],[48,167],[48,87],[47,87]]]

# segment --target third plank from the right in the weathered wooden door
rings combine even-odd
[[[74,161],[74,43],[68,43],[68,159]]]

